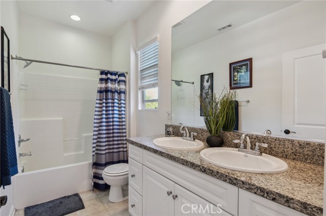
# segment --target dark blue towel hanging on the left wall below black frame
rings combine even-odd
[[[11,185],[11,176],[18,173],[14,124],[10,95],[0,87],[0,187]]]

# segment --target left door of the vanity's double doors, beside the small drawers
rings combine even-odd
[[[143,215],[174,215],[173,192],[172,181],[143,166]]]

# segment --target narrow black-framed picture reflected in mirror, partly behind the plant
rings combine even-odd
[[[213,73],[200,76],[200,97],[206,103],[210,103],[213,98]],[[203,107],[200,106],[200,116],[204,116]]]

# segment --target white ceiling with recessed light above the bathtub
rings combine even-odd
[[[155,1],[73,0],[73,1],[16,1],[22,14],[35,16],[71,27],[112,36],[128,20],[140,17]],[[112,3],[113,2],[113,3]],[[78,15],[73,21],[70,15]]]

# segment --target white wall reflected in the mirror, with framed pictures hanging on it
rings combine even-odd
[[[239,100],[250,100],[239,104],[239,130],[262,133],[269,129],[281,135],[282,53],[325,43],[324,15],[324,1],[302,2],[176,52],[173,79],[195,81],[199,95],[200,75],[214,72],[214,92],[220,94],[229,86],[229,63],[252,57],[253,87],[237,90]],[[193,107],[179,110],[191,112]],[[184,123],[179,114],[173,118],[173,123]],[[204,126],[198,109],[194,125]]]

